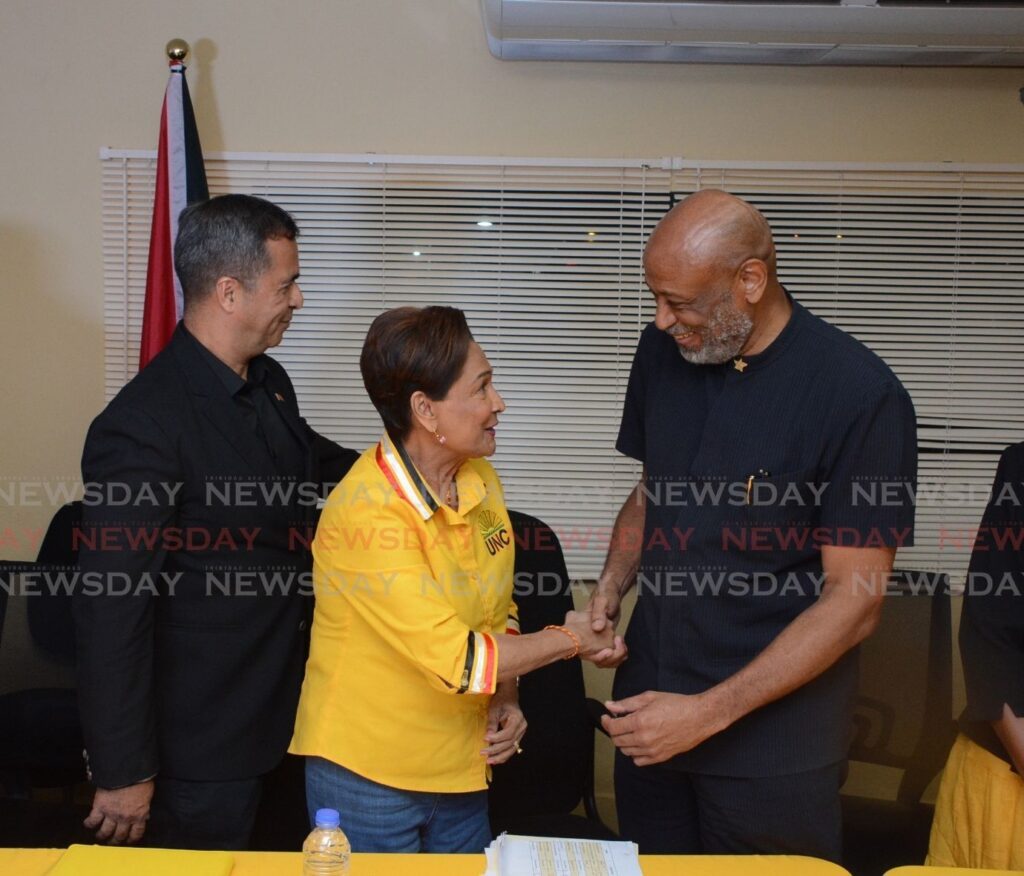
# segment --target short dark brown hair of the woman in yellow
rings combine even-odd
[[[473,335],[457,307],[395,307],[370,326],[359,357],[362,383],[388,434],[403,441],[413,427],[416,391],[439,401],[459,379]]]

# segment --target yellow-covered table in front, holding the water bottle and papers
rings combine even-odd
[[[0,848],[3,876],[44,876],[60,860],[59,848]],[[293,851],[237,851],[232,876],[299,876],[302,856]],[[351,876],[481,876],[482,854],[353,854]],[[842,867],[813,858],[767,856],[642,854],[644,876],[850,876]],[[915,871],[916,868],[903,868]],[[924,868],[921,868],[924,870]],[[896,871],[892,871],[896,872]],[[941,870],[929,868],[926,876]],[[964,870],[946,871],[956,876]],[[979,871],[980,872],[980,871]],[[993,871],[985,871],[986,876]],[[111,876],[118,876],[112,874]],[[125,874],[127,876],[127,874]],[[131,876],[145,876],[131,874]]]

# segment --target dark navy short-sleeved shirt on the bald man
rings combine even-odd
[[[916,428],[889,367],[793,302],[745,367],[690,365],[653,324],[617,449],[647,470],[638,603],[615,697],[695,694],[763,651],[823,583],[821,547],[912,542]],[[672,765],[771,776],[846,756],[856,656]]]

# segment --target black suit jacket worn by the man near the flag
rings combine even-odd
[[[73,604],[99,787],[254,777],[288,746],[308,635],[312,485],[339,479],[357,454],[313,432],[285,370],[261,359],[304,449],[302,482],[275,471],[180,326],[89,429]]]

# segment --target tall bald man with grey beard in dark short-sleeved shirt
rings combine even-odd
[[[603,629],[637,587],[604,661],[620,828],[646,853],[839,861],[856,646],[912,540],[913,406],[780,285],[738,198],[674,207],[644,274],[616,444],[643,474],[591,601]]]

